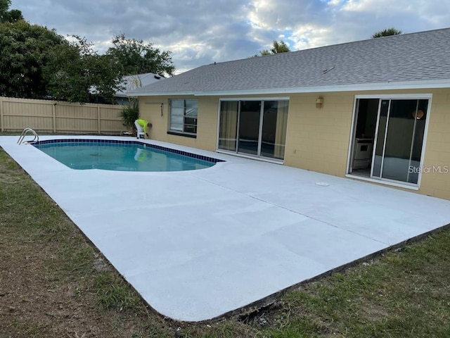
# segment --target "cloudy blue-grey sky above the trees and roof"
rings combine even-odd
[[[175,73],[248,58],[274,40],[291,51],[450,27],[444,0],[12,0],[25,20],[79,35],[103,54],[113,36],[172,51]]]

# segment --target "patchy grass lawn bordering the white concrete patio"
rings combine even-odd
[[[450,230],[214,323],[155,313],[0,149],[0,337],[450,337]]]

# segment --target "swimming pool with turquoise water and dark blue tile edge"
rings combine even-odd
[[[217,158],[137,141],[51,139],[33,145],[77,170],[184,171],[210,168],[222,162]]]

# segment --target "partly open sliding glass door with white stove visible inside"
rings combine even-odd
[[[418,184],[429,99],[357,99],[350,173],[379,180]],[[373,115],[369,108],[378,106]],[[371,117],[373,116],[373,118]],[[375,123],[376,116],[376,123]],[[373,123],[370,121],[373,120]],[[369,121],[369,122],[367,122]],[[364,135],[364,137],[361,137]],[[368,135],[368,136],[367,136]],[[361,142],[373,144],[367,162],[360,161]],[[372,149],[370,146],[368,149]],[[369,170],[359,166],[367,163]]]

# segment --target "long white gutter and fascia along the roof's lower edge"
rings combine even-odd
[[[267,95],[267,94],[301,94],[301,93],[322,93],[322,92],[361,92],[373,90],[394,90],[394,89],[437,89],[450,88],[450,79],[446,80],[419,80],[419,81],[388,81],[373,82],[364,84],[339,84],[330,86],[307,86],[307,87],[282,87],[282,88],[262,88],[262,89],[233,89],[216,90],[210,92],[153,92],[153,93],[127,93],[129,96],[228,96],[228,95]]]

